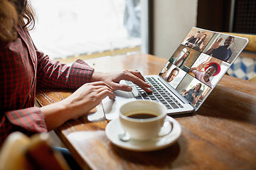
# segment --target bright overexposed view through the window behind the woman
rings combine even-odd
[[[142,44],[139,0],[32,0],[31,3],[37,16],[31,36],[38,50],[53,60],[139,50]]]

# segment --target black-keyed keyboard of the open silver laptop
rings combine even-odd
[[[181,103],[178,103],[178,101],[169,94],[169,92],[164,89],[164,87],[159,84],[154,77],[146,77],[145,81],[147,84],[151,84],[151,90],[152,93],[146,93],[143,89],[141,89],[139,86],[136,84],[133,84],[132,81],[126,81],[126,83],[129,86],[132,86],[132,94],[134,94],[134,97],[136,99],[141,99],[141,100],[151,100],[151,101],[158,101],[163,103],[166,108],[171,109],[171,108],[183,108]]]

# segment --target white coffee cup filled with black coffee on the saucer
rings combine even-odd
[[[151,140],[163,136],[159,132],[164,125],[166,113],[166,106],[156,101],[129,101],[120,107],[119,120],[131,139]]]

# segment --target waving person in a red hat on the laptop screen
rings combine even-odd
[[[202,72],[202,69],[205,69],[205,72]],[[204,84],[212,87],[210,77],[215,77],[220,73],[220,65],[216,62],[202,62],[197,67],[192,67],[188,72],[192,72],[196,79],[202,81]]]

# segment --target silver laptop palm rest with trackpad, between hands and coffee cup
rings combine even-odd
[[[128,101],[135,100],[135,98],[132,98],[130,92],[114,91],[114,94],[116,95],[114,100],[110,100],[108,97],[102,100],[102,106],[107,120],[118,118],[120,106]]]

